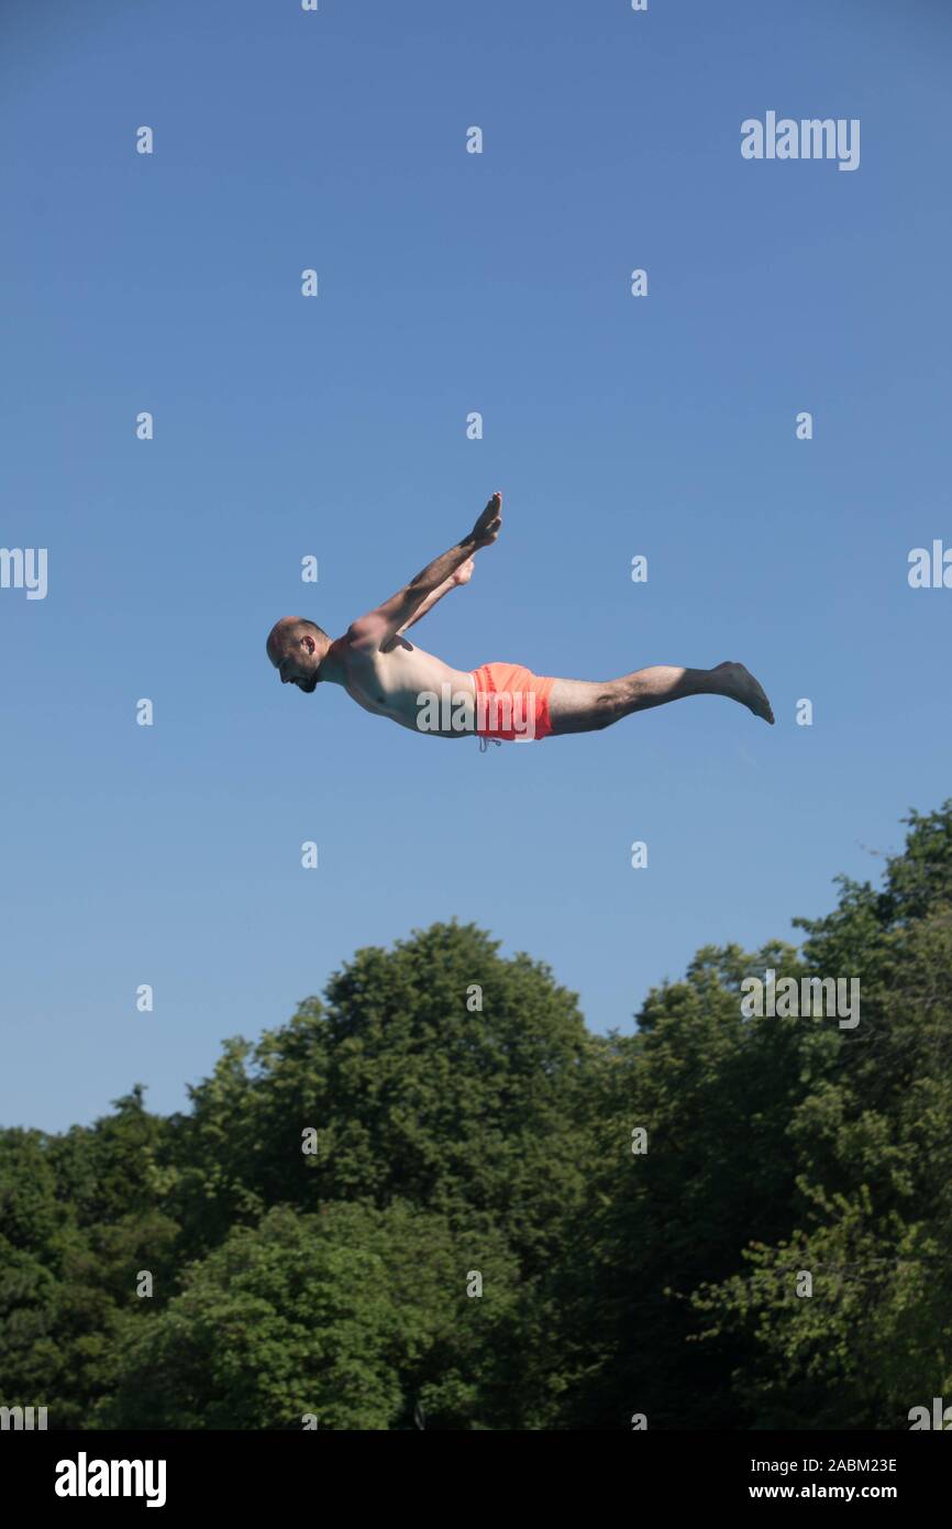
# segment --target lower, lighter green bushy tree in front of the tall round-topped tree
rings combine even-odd
[[[478,1266],[483,1297],[466,1294]],[[518,1268],[498,1232],[463,1238],[394,1202],[267,1211],[191,1264],[153,1321],[131,1323],[118,1427],[480,1427],[504,1398]]]

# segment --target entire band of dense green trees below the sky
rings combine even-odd
[[[634,1035],[442,924],[226,1043],[185,1115],[133,1090],[0,1131],[0,1401],[275,1430],[952,1402],[952,803],[908,827],[801,948],[701,950]],[[857,977],[860,1023],[747,1017],[767,968]]]

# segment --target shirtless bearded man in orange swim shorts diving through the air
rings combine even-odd
[[[755,717],[773,722],[770,702],[743,664],[712,670],[636,670],[620,679],[542,679],[513,664],[484,664],[465,673],[408,642],[405,631],[436,602],[468,584],[472,557],[497,540],[503,495],[494,494],[471,534],[443,552],[342,638],[332,641],[303,616],[283,616],[267,636],[267,656],[283,685],[313,694],[321,682],[380,717],[442,739],[523,742],[550,734],[597,732],[633,711],[663,706],[682,696],[727,696]],[[484,748],[486,745],[483,745]]]

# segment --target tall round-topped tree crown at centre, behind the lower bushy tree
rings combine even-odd
[[[474,986],[481,1009],[468,1008]],[[223,1232],[280,1202],[399,1196],[494,1216],[533,1272],[584,1194],[593,1046],[575,995],[480,930],[434,925],[358,951],[327,1003],[254,1049],[231,1043],[193,1092],[173,1164],[180,1217],[199,1238],[209,1219]],[[301,1153],[307,1125],[316,1156]]]

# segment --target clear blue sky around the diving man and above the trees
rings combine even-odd
[[[952,544],[938,0],[6,0],[0,43],[0,544],[49,549],[44,601],[0,590],[0,1122],[179,1109],[454,914],[631,1029],[949,794],[952,590],[906,581]],[[767,110],[859,118],[860,168],[743,161]],[[280,687],[277,616],[336,635],[497,486],[423,647],[741,659],[778,726],[701,697],[480,755]]]

